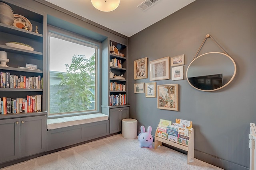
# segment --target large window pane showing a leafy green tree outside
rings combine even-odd
[[[63,33],[62,33],[63,35]],[[49,115],[97,109],[97,46],[49,33]]]

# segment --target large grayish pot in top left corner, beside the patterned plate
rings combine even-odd
[[[6,25],[13,25],[14,23],[13,10],[4,2],[0,2],[0,22]]]

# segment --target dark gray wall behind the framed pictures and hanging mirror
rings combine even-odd
[[[161,3],[161,2],[159,2]],[[195,157],[224,169],[249,167],[249,123],[256,122],[256,1],[197,0],[128,40],[130,117],[155,131],[160,119],[193,121]],[[179,84],[179,111],[157,109],[156,98],[134,94],[134,60],[185,54],[184,73],[206,34],[210,34],[237,64],[234,80],[216,92],[202,92],[184,80],[159,80]],[[207,39],[200,54],[220,48]],[[149,77],[149,72],[148,72]],[[154,135],[154,132],[152,132]]]

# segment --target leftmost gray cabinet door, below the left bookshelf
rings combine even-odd
[[[0,120],[0,162],[20,158],[20,118]]]

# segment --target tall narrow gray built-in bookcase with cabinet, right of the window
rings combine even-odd
[[[123,55],[111,53],[111,45],[116,47],[118,52]],[[117,64],[113,62],[117,62]],[[121,66],[118,63],[121,63]],[[120,132],[122,119],[130,117],[130,105],[128,105],[127,95],[127,64],[127,45],[109,38],[105,39],[102,42],[102,113],[109,115],[110,134]],[[110,72],[117,76],[123,75],[124,80],[110,77]],[[116,85],[111,88],[111,84]],[[124,85],[124,89],[115,88],[122,85]],[[118,101],[113,101],[115,95],[125,95],[125,104],[120,105]]]

